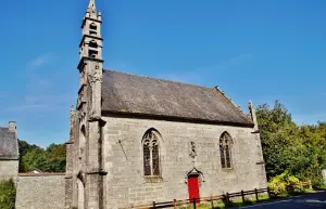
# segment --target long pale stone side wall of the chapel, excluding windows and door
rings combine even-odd
[[[104,117],[103,179],[105,208],[130,207],[173,199],[187,199],[187,173],[193,166],[203,173],[200,196],[220,195],[266,187],[260,135],[251,128],[186,123],[163,120]],[[162,178],[145,179],[141,140],[154,128],[160,142]],[[233,170],[223,170],[220,136],[233,138]],[[190,141],[196,143],[196,162],[189,156]],[[204,180],[204,181],[203,181]]]

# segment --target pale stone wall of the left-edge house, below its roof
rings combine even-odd
[[[0,160],[0,180],[12,178],[16,180],[18,173],[18,160]]]

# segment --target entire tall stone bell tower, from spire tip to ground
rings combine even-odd
[[[83,18],[83,38],[79,43],[80,74],[79,91],[76,112],[73,112],[74,122],[71,134],[73,142],[73,179],[70,192],[72,195],[67,208],[79,209],[103,208],[103,172],[101,146],[102,127],[101,99],[102,99],[102,15],[96,9],[95,0],[89,0]],[[73,138],[73,139],[72,139]]]

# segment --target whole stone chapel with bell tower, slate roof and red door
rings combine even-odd
[[[247,115],[217,87],[104,69],[101,26],[90,0],[66,143],[66,208],[130,208],[267,186],[251,102]]]

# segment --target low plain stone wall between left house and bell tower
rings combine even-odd
[[[20,174],[16,209],[63,209],[64,174]]]

